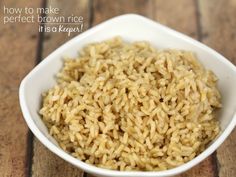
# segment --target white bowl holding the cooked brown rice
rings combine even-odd
[[[222,94],[223,108],[218,114],[221,134],[209,147],[193,160],[179,167],[160,172],[113,171],[86,164],[63,151],[49,135],[38,111],[41,106],[42,92],[51,88],[55,82],[55,74],[62,67],[63,56],[76,56],[87,43],[102,41],[114,36],[121,36],[127,41],[146,40],[157,48],[176,48],[190,50],[197,54],[204,66],[212,70],[217,77],[218,88]],[[145,17],[127,14],[112,18],[65,43],[39,65],[37,65],[21,82],[19,96],[20,106],[31,131],[52,152],[77,166],[78,168],[97,176],[116,177],[164,177],[184,172],[197,165],[213,153],[227,138],[236,124],[236,68],[225,57],[204,44],[169,29]]]

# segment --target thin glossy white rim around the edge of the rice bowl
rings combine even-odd
[[[105,22],[100,23],[99,25],[96,25],[87,31],[83,32],[82,34],[72,38],[68,42],[62,44],[59,48],[54,50],[49,56],[47,56],[42,62],[40,62],[35,68],[33,68],[27,76],[21,81],[20,88],[19,88],[19,102],[20,102],[20,107],[23,113],[23,117],[30,128],[30,130],[33,132],[33,134],[39,139],[39,141],[46,146],[51,152],[56,154],[57,156],[61,157],[62,159],[66,160],[67,162],[73,164],[76,167],[79,167],[80,169],[88,172],[88,173],[93,173],[97,175],[105,175],[105,176],[147,176],[147,177],[154,177],[154,176],[171,176],[171,175],[176,175],[179,173],[182,173],[193,166],[199,164],[201,161],[203,161],[205,158],[207,158],[209,155],[211,155],[222,143],[223,141],[228,137],[228,135],[231,133],[231,131],[234,129],[236,125],[236,112],[234,112],[234,115],[232,116],[232,119],[228,126],[225,128],[223,132],[216,138],[215,142],[213,142],[207,149],[205,149],[201,154],[196,156],[194,159],[190,160],[189,162],[182,164],[178,167],[169,169],[169,170],[163,170],[163,171],[118,171],[118,170],[109,170],[109,169],[104,169],[100,167],[96,167],[94,165],[87,164],[71,155],[66,153],[64,150],[62,150],[60,147],[56,146],[53,144],[37,127],[35,121],[33,120],[32,116],[30,115],[27,103],[26,103],[26,98],[25,98],[25,87],[26,83],[30,78],[38,72],[38,70],[45,65],[50,60],[53,60],[53,56],[56,55],[56,53],[60,53],[60,50],[63,48],[67,48],[67,45],[73,43],[75,40],[80,40],[83,38],[86,38],[90,34],[96,33],[96,31],[99,31],[101,28],[106,26],[107,24],[113,22],[113,21],[122,21],[124,19],[136,19],[143,21],[144,23],[149,23],[152,25],[156,25],[159,29],[164,30],[178,38],[181,38],[181,40],[188,41],[189,43],[192,43],[193,45],[196,45],[201,48],[201,50],[205,50],[208,53],[210,53],[212,56],[216,56],[215,58],[221,60],[221,62],[225,63],[231,70],[234,71],[236,75],[236,67],[225,57],[223,57],[221,54],[217,53],[215,50],[209,48],[208,46],[198,42],[195,39],[192,39],[189,36],[186,36],[180,32],[177,32],[173,29],[170,29],[162,24],[159,24],[156,21],[150,20],[147,17],[137,15],[137,14],[124,14],[120,15],[117,17],[113,17]]]

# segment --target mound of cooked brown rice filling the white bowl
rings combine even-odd
[[[166,170],[219,134],[216,82],[191,52],[116,37],[65,59],[39,112],[61,148],[86,163]]]

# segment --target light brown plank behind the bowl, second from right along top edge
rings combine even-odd
[[[153,1],[153,19],[193,38],[198,38],[194,0]]]

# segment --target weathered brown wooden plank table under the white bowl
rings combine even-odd
[[[58,7],[61,14],[84,17],[84,31],[125,13],[147,16],[183,32],[236,64],[236,0],[34,0],[1,1],[0,25],[0,177],[90,176],[46,149],[28,130],[18,103],[21,79],[65,41],[65,33],[39,33],[38,23],[3,25],[3,6]],[[220,148],[181,177],[235,177],[236,130]]]

